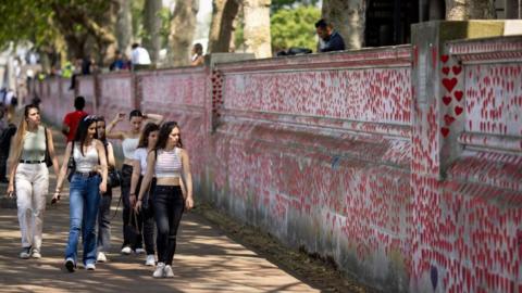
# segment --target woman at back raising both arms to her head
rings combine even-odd
[[[139,135],[141,133],[141,125],[146,119],[152,119],[156,124],[161,124],[163,116],[158,114],[144,114],[139,110],[130,111],[128,120],[130,130],[113,131],[116,124],[125,117],[124,113],[117,113],[116,117],[107,126],[107,138],[117,139],[122,141],[123,165],[122,165],[122,199],[123,199],[123,244],[122,254],[128,255],[133,250],[138,253],[145,253],[142,249],[142,238],[140,234],[135,237],[129,227],[132,218],[132,206],[136,202],[136,196],[130,194],[130,177],[133,176],[134,152],[138,146]]]

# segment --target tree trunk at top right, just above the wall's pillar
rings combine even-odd
[[[495,0],[446,0],[447,21],[495,20]]]

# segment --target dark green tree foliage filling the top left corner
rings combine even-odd
[[[85,54],[86,49],[103,52],[115,42],[114,4],[107,0],[0,1],[0,47],[22,41],[53,47],[61,39],[70,58]]]

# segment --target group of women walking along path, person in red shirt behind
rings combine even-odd
[[[80,97],[79,97],[80,98]],[[22,232],[21,258],[41,257],[41,234],[48,166],[58,175],[51,204],[60,202],[65,179],[70,181],[70,232],[64,266],[73,272],[78,263],[77,244],[82,233],[82,263],[95,270],[107,262],[111,241],[111,202],[115,158],[108,139],[121,140],[124,161],[121,170],[123,201],[123,245],[121,253],[146,253],[146,265],[154,266],[154,278],[172,278],[176,234],[184,211],[194,206],[190,163],[183,148],[181,128],[175,122],[134,110],[130,128],[116,131],[124,113],[107,125],[103,117],[85,115],[85,101],[75,100],[76,112],[64,119],[67,144],[61,167],[54,152],[52,132],[40,122],[37,105],[26,105],[13,139],[8,186],[16,193]],[[76,118],[74,118],[76,117]],[[78,120],[75,125],[75,122]],[[142,124],[146,120],[145,127]],[[154,245],[154,233],[156,245]],[[144,247],[145,242],[145,247]],[[158,259],[156,259],[158,255]]]

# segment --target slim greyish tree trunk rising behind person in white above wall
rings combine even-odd
[[[179,2],[179,1],[178,1]],[[176,5],[177,7],[177,5]],[[161,17],[159,13],[162,8],[161,0],[146,0],[144,9],[144,47],[147,48],[152,63],[157,63],[161,50]]]

